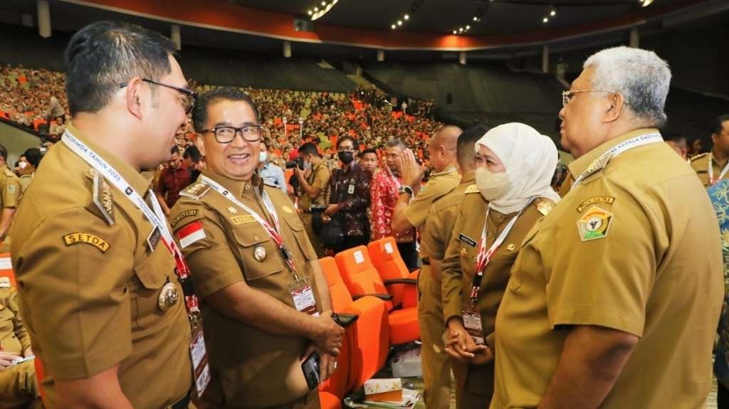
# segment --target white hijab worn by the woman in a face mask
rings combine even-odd
[[[532,198],[559,201],[559,195],[550,186],[559,159],[549,137],[529,125],[512,122],[486,132],[476,142],[476,151],[480,146],[494,151],[512,184],[502,199],[489,202],[488,207],[506,215],[523,209]]]

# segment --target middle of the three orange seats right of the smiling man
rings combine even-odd
[[[407,344],[420,339],[418,309],[415,307],[393,309],[392,295],[387,293],[380,274],[370,261],[367,247],[359,246],[345,250],[337,253],[335,259],[352,298],[373,295],[386,301],[389,311],[390,344]]]

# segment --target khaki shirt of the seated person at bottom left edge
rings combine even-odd
[[[9,282],[0,281],[0,350],[23,355],[31,346],[31,338],[20,318],[17,292]]]

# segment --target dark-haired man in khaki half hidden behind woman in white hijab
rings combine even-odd
[[[431,349],[431,346],[423,347],[424,354],[430,358],[427,370],[429,376],[440,381],[437,384],[438,389],[432,393],[433,400],[437,405],[432,407],[447,408],[450,403],[450,386],[451,386],[451,370],[448,366],[448,356],[443,351],[443,333],[445,333],[445,325],[443,324],[443,306],[441,302],[440,291],[440,272],[441,262],[445,255],[445,249],[451,242],[451,234],[456,224],[456,217],[461,202],[466,196],[466,191],[476,191],[473,176],[474,153],[473,147],[476,140],[481,138],[488,130],[485,126],[473,127],[465,130],[458,138],[457,159],[459,164],[459,172],[461,181],[456,188],[438,199],[430,207],[429,215],[426,219],[423,232],[421,234],[420,254],[424,260],[429,261],[429,286],[423,288],[428,290],[428,295],[421,295],[421,303],[432,302],[432,306],[424,306],[424,314],[421,316],[421,337],[424,331],[427,331],[434,344],[433,352],[425,353],[425,349]],[[422,271],[421,271],[422,274]],[[425,278],[425,277],[423,277]],[[427,301],[426,301],[427,300]],[[424,369],[426,369],[424,365]],[[448,397],[448,400],[445,398]],[[440,399],[440,400],[436,400]]]

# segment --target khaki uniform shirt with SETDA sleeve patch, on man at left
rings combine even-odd
[[[69,128],[139,194],[149,191],[139,172]],[[159,409],[190,390],[184,303],[163,311],[157,301],[165,283],[174,284],[180,300],[182,288],[163,242],[149,249],[151,233],[141,211],[95,180],[64,143],[48,151],[15,214],[11,251],[50,408],[58,407],[55,378],[87,378],[117,364],[122,392],[135,408]]]

